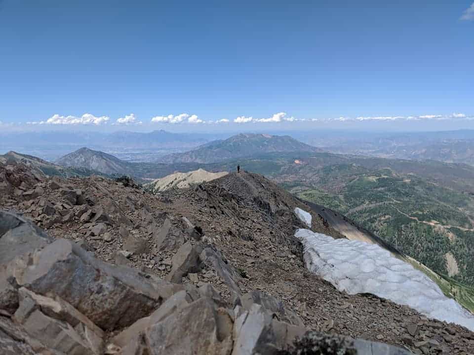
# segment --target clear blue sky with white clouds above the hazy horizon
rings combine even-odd
[[[474,128],[472,1],[0,0],[0,129]]]

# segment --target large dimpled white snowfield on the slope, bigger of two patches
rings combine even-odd
[[[474,331],[474,315],[421,271],[376,244],[334,239],[308,229],[295,236],[303,244],[306,267],[350,294],[372,293],[407,305],[429,318],[457,323]]]

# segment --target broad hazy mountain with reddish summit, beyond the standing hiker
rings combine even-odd
[[[185,153],[162,157],[162,163],[218,163],[273,152],[319,152],[319,148],[299,142],[290,136],[239,134],[226,140],[209,142]]]

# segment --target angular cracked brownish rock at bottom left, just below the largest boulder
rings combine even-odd
[[[64,300],[22,287],[14,320],[41,343],[67,354],[100,354],[104,332]]]

